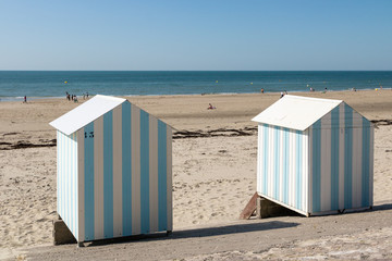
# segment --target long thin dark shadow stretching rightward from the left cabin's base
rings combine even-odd
[[[299,223],[294,222],[281,222],[281,221],[270,221],[262,223],[253,223],[253,224],[235,224],[228,226],[218,226],[218,227],[205,227],[196,229],[185,229],[185,231],[175,231],[170,233],[156,233],[149,235],[138,235],[130,237],[120,237],[113,239],[102,239],[95,240],[91,243],[86,243],[88,247],[110,245],[110,244],[127,244],[127,243],[138,243],[139,240],[164,240],[164,239],[184,239],[184,238],[195,238],[195,237],[212,237],[212,236],[223,236],[231,234],[241,234],[248,232],[262,232],[271,229],[280,229],[298,226]]]

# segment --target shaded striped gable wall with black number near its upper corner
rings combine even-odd
[[[77,132],[78,241],[172,229],[172,133],[124,102]]]

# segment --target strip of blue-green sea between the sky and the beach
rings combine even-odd
[[[392,71],[0,71],[0,101],[83,96],[159,96],[377,89]]]

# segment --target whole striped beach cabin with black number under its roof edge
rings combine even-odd
[[[95,96],[57,129],[57,211],[78,243],[172,231],[172,128]]]

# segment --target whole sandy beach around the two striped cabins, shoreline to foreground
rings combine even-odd
[[[0,102],[0,259],[392,259],[392,90],[293,95],[344,100],[373,121],[373,211],[238,221],[256,191],[257,129],[250,119],[279,94],[126,97],[175,128],[174,233],[168,239],[53,248],[56,130],[48,123],[79,103]],[[217,109],[207,110],[208,103]]]

